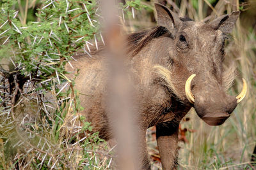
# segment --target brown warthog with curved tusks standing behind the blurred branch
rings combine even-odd
[[[141,169],[150,169],[145,133],[153,125],[163,169],[175,169],[179,122],[191,107],[207,124],[221,125],[246,94],[245,81],[239,96],[225,93],[236,75],[234,67],[223,67],[225,37],[234,28],[239,11],[205,24],[179,18],[161,4],[155,7],[158,26],[127,36],[127,62],[138,90]],[[72,62],[81,69],[76,89],[93,131],[109,139],[111,121],[102,97],[106,94],[106,57],[102,49],[92,55],[77,54],[79,62]]]

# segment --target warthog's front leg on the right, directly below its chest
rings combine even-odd
[[[178,162],[179,123],[164,122],[156,125],[157,145],[164,170],[176,169]]]

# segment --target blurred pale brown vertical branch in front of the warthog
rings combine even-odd
[[[118,11],[115,1],[101,1],[105,16],[106,56],[108,77],[107,103],[109,120],[113,122],[112,131],[118,143],[118,169],[140,169],[138,162],[138,125],[136,124],[136,105],[134,89],[129,78],[129,66],[125,66],[125,36],[118,25]]]

